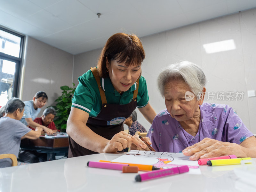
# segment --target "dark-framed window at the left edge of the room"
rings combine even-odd
[[[0,27],[0,107],[18,97],[24,36]]]

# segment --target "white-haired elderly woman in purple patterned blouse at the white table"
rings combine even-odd
[[[206,77],[201,68],[187,61],[170,65],[157,81],[166,109],[147,135],[156,151],[183,152],[190,160],[256,157],[256,138],[236,112],[228,105],[203,103]]]

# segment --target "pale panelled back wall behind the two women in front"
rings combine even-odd
[[[201,66],[208,78],[207,92],[244,92],[243,100],[205,102],[225,103],[233,107],[244,124],[256,133],[253,119],[256,97],[247,97],[247,90],[256,90],[256,9],[221,17],[182,28],[142,37],[146,59],[142,64],[142,76],[147,80],[149,102],[158,113],[165,108],[164,99],[158,93],[156,78],[168,64],[188,60]],[[136,33],[136,32],[135,32]],[[236,49],[208,54],[203,45],[233,39]],[[103,45],[102,45],[103,46]],[[96,66],[100,50],[75,55],[74,78]],[[225,98],[226,99],[226,98]],[[137,110],[137,109],[136,109]],[[150,124],[138,112],[138,121],[148,130]]]

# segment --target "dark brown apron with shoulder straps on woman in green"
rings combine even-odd
[[[105,92],[100,86],[100,77],[98,76],[97,68],[91,68],[91,71],[99,87],[102,108],[96,117],[89,116],[86,125],[96,134],[111,140],[116,133],[124,131],[124,120],[132,114],[133,110],[137,106],[139,79],[136,81],[137,88],[133,91],[133,100],[130,103],[125,105],[108,104]],[[68,157],[84,156],[97,153],[78,145],[70,136],[68,141]]]

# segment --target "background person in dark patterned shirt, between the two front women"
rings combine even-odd
[[[124,124],[128,125],[130,135],[135,135],[136,131],[147,132],[147,130],[137,121],[136,111],[133,111],[132,115],[124,120]]]

